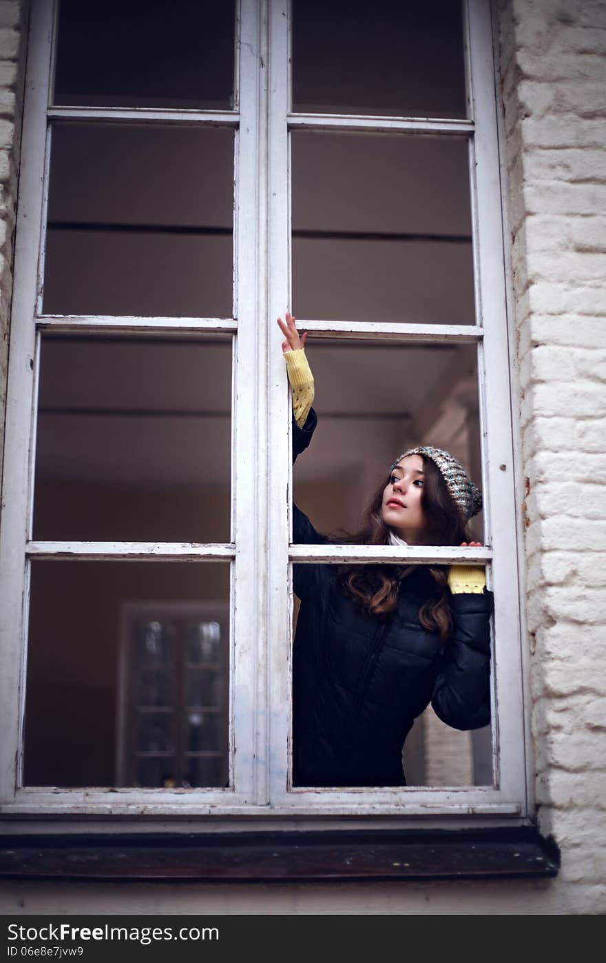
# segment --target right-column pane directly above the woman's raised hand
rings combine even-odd
[[[294,314],[474,324],[467,141],[291,138]]]

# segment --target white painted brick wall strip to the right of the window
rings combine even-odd
[[[569,911],[594,912],[606,884],[606,3],[503,0],[500,47],[539,819],[563,851],[552,894],[566,887]]]

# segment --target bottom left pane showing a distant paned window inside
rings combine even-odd
[[[215,629],[213,706],[188,639]],[[34,561],[25,784],[225,786],[229,564]]]

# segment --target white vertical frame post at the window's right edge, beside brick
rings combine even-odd
[[[524,713],[520,698],[516,535],[516,462],[512,440],[511,390],[504,275],[502,196],[492,65],[491,5],[467,0],[469,86],[477,130],[469,152],[478,322],[484,339],[478,349],[480,424],[483,439],[483,491],[487,538],[492,545],[494,590],[494,676],[498,700],[493,725],[496,777],[506,798],[525,798]],[[490,385],[490,396],[489,386]]]

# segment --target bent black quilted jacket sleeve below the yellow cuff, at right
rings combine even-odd
[[[491,721],[492,592],[452,595],[452,634],[443,647],[432,707],[454,729],[479,729]]]

